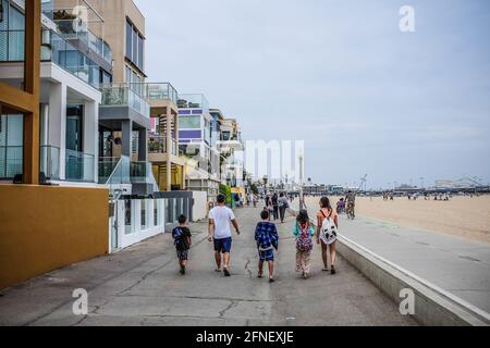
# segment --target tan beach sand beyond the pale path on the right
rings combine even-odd
[[[338,198],[331,198],[336,204]],[[307,198],[308,208],[318,206],[318,198]],[[400,226],[417,227],[490,245],[490,196],[454,197],[450,201],[426,201],[395,198],[356,199],[356,214]]]

